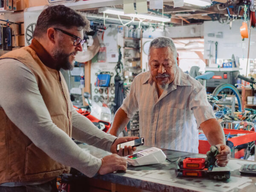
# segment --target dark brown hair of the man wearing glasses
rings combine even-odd
[[[38,17],[34,37],[40,37],[47,32],[49,27],[56,26],[63,26],[67,29],[76,26],[79,30],[85,31],[90,29],[89,21],[75,10],[64,5],[47,6],[47,9],[44,9]]]

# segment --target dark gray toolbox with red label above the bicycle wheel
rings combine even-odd
[[[206,71],[207,72],[207,71]],[[235,85],[239,71],[213,71],[212,79],[206,80],[206,87],[217,87],[220,84],[228,83]]]

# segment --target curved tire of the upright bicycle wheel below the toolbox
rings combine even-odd
[[[237,99],[237,102],[238,102],[238,111],[242,111],[242,99],[240,97],[240,93],[239,91],[236,89],[236,87],[234,87],[232,84],[220,84],[218,85],[218,87],[216,87],[213,92],[212,92],[212,96],[215,96],[217,97],[218,96],[218,93],[220,93],[222,90],[224,89],[227,89],[227,90],[231,90],[235,96],[236,96],[236,99]]]

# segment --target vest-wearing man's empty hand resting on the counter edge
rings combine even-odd
[[[105,175],[118,170],[125,171],[127,169],[127,163],[124,157],[120,157],[117,154],[111,154],[103,157],[102,166],[99,168],[99,175]]]

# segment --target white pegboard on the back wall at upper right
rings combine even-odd
[[[215,42],[217,45],[217,58],[231,59],[232,54],[235,57],[247,58],[248,38],[242,41],[240,27],[243,20],[232,22],[230,29],[229,24],[221,24],[218,21],[204,22],[204,58],[209,59],[209,55],[215,58]],[[248,23],[247,23],[248,24]],[[249,31],[249,30],[248,30]],[[251,29],[250,38],[250,55],[249,58],[256,58],[256,29]],[[212,44],[211,52],[210,44]]]

